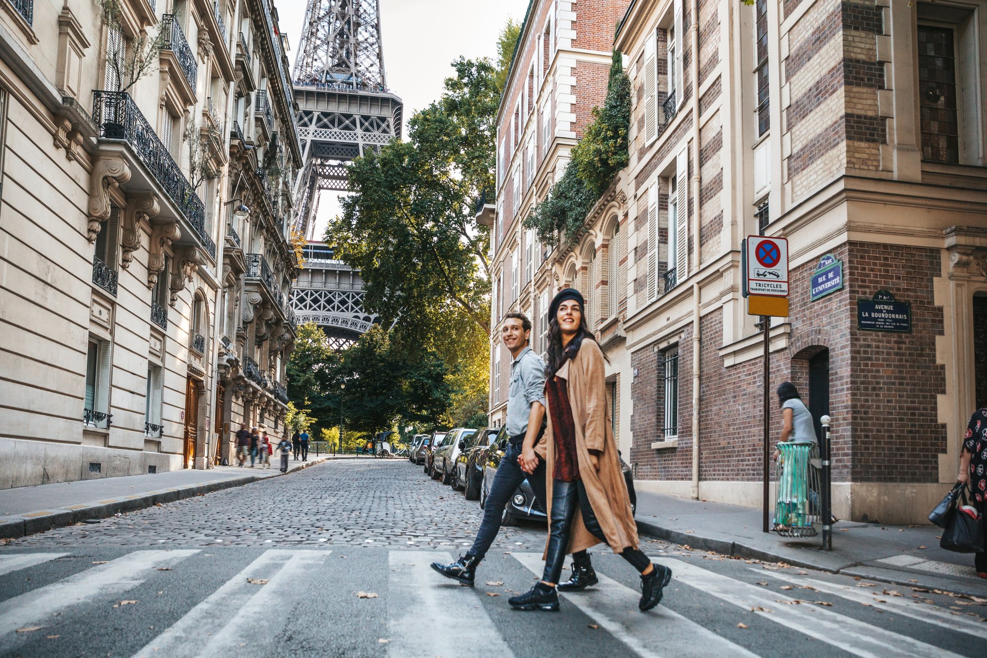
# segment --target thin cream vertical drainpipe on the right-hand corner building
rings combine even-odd
[[[692,216],[693,244],[696,246],[696,257],[693,259],[693,271],[701,268],[702,249],[699,243],[699,0],[690,0],[689,48],[692,58],[689,62],[692,73],[692,197],[695,199]],[[688,246],[687,246],[688,248]],[[699,498],[699,383],[700,383],[700,289],[699,282],[692,284],[692,497]]]

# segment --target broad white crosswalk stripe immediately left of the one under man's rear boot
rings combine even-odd
[[[263,619],[270,628],[288,622],[286,602],[297,599],[298,583],[321,566],[332,550],[266,550],[247,568],[192,608],[181,620],[148,642],[135,656],[268,656],[275,637],[257,632]],[[248,582],[266,580],[265,584]],[[236,615],[231,615],[236,611]],[[216,621],[229,621],[218,630]],[[211,634],[210,634],[211,633]],[[250,637],[249,645],[243,638]]]

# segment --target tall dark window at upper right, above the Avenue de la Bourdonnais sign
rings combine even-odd
[[[922,159],[958,164],[955,32],[920,25],[918,42]]]

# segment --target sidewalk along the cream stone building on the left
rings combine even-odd
[[[289,458],[288,473],[333,459],[352,459],[352,456],[310,454],[308,462]],[[183,469],[0,490],[0,538],[16,539],[87,519],[103,519],[117,512],[132,512],[157,503],[286,475],[277,468],[277,455],[271,456],[270,462],[270,469],[219,466],[205,471]]]

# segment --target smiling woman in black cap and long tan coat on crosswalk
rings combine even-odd
[[[583,308],[582,295],[573,288],[562,290],[549,307],[548,427],[535,449],[546,460],[551,510],[545,572],[531,591],[508,603],[520,610],[558,611],[556,585],[566,553],[605,542],[642,574],[638,607],[650,610],[661,601],[672,572],[652,564],[638,548],[631,499],[607,417],[603,352],[586,329]]]

